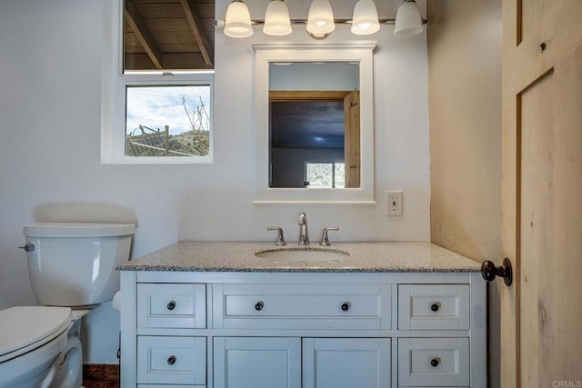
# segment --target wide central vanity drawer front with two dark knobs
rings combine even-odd
[[[216,328],[388,329],[386,284],[217,284]]]

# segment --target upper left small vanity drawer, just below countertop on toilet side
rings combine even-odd
[[[137,284],[137,327],[206,328],[206,284]]]

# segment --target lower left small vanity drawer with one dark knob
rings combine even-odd
[[[137,383],[206,384],[206,337],[137,337]]]

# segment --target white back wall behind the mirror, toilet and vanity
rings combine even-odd
[[[266,2],[247,3],[264,12]],[[303,3],[293,17],[307,2],[287,1]],[[394,17],[399,1],[377,3]],[[218,0],[216,14],[226,5]],[[254,205],[250,44],[266,37],[216,34],[214,164],[104,165],[100,15],[100,0],[0,2],[0,308],[35,303],[17,249],[35,221],[135,222],[133,257],[178,240],[271,241],[270,225],[294,241],[302,211],[313,234],[339,226],[338,241],[430,239],[426,35],[396,39],[384,26],[373,37],[377,205]],[[291,39],[311,42],[303,30]],[[343,26],[329,41],[338,39],[354,36]],[[404,217],[386,217],[386,190],[404,191]],[[91,313],[85,363],[116,362],[118,327],[110,303]]]

